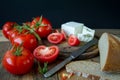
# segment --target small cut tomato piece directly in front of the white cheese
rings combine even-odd
[[[68,44],[70,46],[78,46],[80,44],[80,41],[78,40],[76,36],[70,35],[68,38]]]

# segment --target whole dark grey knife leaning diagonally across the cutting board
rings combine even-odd
[[[80,47],[76,51],[73,51],[68,58],[66,58],[64,61],[62,61],[61,63],[59,63],[58,65],[56,65],[52,69],[50,69],[48,72],[46,72],[44,74],[44,77],[50,77],[55,72],[57,72],[62,67],[64,67],[67,63],[69,63],[73,59],[77,58],[79,55],[83,54],[85,52],[85,50],[87,50],[89,47],[97,44],[97,42],[98,42],[98,40],[94,38],[93,40],[91,40],[90,42],[86,43],[84,46]]]

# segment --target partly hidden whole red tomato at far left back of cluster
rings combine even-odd
[[[9,39],[9,31],[13,29],[14,25],[16,23],[15,22],[6,22],[4,25],[3,25],[3,29],[2,29],[2,33],[3,35]]]

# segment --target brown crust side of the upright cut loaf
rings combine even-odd
[[[107,33],[107,35],[109,48],[106,63],[102,68],[102,71],[120,72],[120,40],[109,33]]]

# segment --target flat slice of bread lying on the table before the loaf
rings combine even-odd
[[[100,64],[92,61],[73,61],[66,65],[66,71],[88,80],[120,80],[120,74],[102,72]]]

